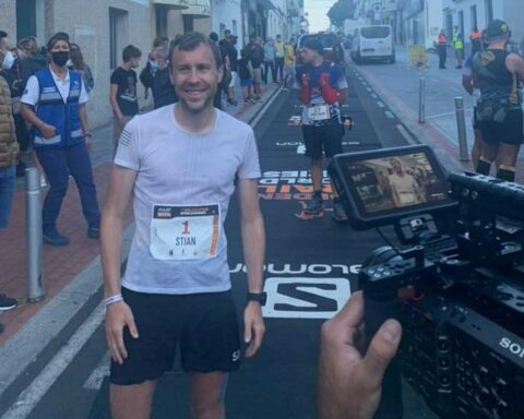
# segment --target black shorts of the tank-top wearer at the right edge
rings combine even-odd
[[[523,113],[522,109],[510,110],[503,122],[480,121],[483,141],[488,144],[513,144],[523,143]]]

